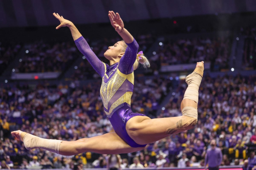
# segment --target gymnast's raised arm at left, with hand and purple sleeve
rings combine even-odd
[[[64,19],[63,16],[59,16],[58,13],[57,14],[53,13],[53,15],[60,21],[60,25],[56,27],[56,29],[59,29],[61,27],[69,27],[78,50],[86,57],[86,59],[93,66],[93,68],[98,72],[98,74],[101,77],[103,77],[105,73],[104,64],[99,60],[99,58],[91,50],[91,47],[87,43],[86,39],[82,37],[82,35],[77,30],[75,25],[71,21]]]

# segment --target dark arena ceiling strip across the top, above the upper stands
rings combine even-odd
[[[256,11],[254,4],[254,0],[0,0],[0,27],[56,25],[53,12],[83,24],[109,22],[109,10],[130,21]]]

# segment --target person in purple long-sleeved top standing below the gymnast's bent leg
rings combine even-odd
[[[222,162],[222,153],[219,148],[216,147],[216,140],[212,139],[210,142],[210,147],[207,150],[205,156],[205,169],[207,169],[206,165],[208,164],[209,170],[219,170],[219,166]]]

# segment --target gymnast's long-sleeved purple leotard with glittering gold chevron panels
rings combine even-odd
[[[87,41],[80,37],[75,40],[79,51],[86,56],[93,68],[102,77],[100,96],[104,105],[104,111],[118,136],[131,147],[145,147],[146,144],[137,144],[126,132],[127,121],[134,116],[145,116],[133,113],[131,110],[131,98],[134,87],[133,64],[137,58],[139,45],[134,39],[121,57],[119,63],[111,66],[103,63],[93,53]]]

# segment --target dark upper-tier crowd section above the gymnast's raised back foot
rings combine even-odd
[[[231,41],[230,37],[194,38],[159,42],[152,62],[163,65],[211,62],[211,71],[228,68]]]

